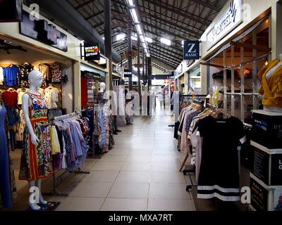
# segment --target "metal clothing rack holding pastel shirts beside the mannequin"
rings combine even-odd
[[[80,112],[79,111],[75,111],[74,113],[69,113],[69,114],[66,114],[66,115],[60,115],[58,117],[54,117],[52,118],[51,120],[49,120],[49,124],[51,125],[54,125],[55,122],[59,122],[61,120],[67,120],[67,119],[71,119],[73,117],[76,117],[80,115]],[[54,163],[54,158],[52,157],[52,160],[53,160],[53,189],[51,190],[50,193],[44,193],[44,195],[59,195],[59,196],[68,196],[68,193],[61,193],[60,191],[58,191],[58,189],[56,188],[56,179],[59,179],[61,178],[61,176],[63,176],[63,174],[61,174],[60,176],[56,177],[56,172],[55,172],[55,163]],[[75,174],[90,174],[90,172],[87,172],[87,171],[84,171],[83,169],[81,168],[78,168],[78,171],[75,171],[74,172]]]

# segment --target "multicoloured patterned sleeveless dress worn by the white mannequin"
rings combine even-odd
[[[51,140],[44,98],[29,92],[27,94],[32,99],[32,105],[29,107],[30,122],[39,143],[38,146],[32,144],[28,128],[25,126],[19,179],[35,181],[53,174]]]

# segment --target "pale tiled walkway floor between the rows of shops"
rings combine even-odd
[[[90,174],[71,174],[62,182],[59,190],[69,196],[57,198],[57,210],[195,210],[185,191],[188,177],[179,172],[184,155],[168,124],[173,117],[159,115],[120,127],[114,149],[85,163]]]

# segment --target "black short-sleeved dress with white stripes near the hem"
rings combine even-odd
[[[245,142],[243,123],[236,117],[204,117],[199,123],[202,159],[197,198],[240,200],[238,146]]]

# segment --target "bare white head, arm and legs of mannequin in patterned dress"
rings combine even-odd
[[[28,75],[28,79],[30,81],[30,89],[28,92],[30,92],[31,94],[37,94],[39,95],[39,92],[37,91],[37,88],[39,88],[40,86],[42,86],[42,82],[43,82],[43,75],[41,72],[39,71],[32,71],[30,72],[30,74]],[[35,135],[35,131],[32,128],[32,124],[30,122],[30,117],[29,117],[29,106],[32,105],[32,99],[30,98],[30,96],[28,96],[28,94],[23,94],[23,115],[25,116],[25,124],[28,128],[28,131],[30,133],[30,138],[32,141],[32,144],[34,146],[37,146],[39,143],[39,140],[37,139],[37,136]],[[36,186],[39,189],[39,203],[42,205],[47,205],[47,201],[45,201],[42,197],[42,193],[41,193],[41,180],[37,180],[37,181],[29,181],[28,182],[30,188]],[[32,193],[30,193],[32,194]],[[40,210],[41,207],[39,207],[39,205],[37,205],[36,203],[29,203],[30,207],[32,210]]]

